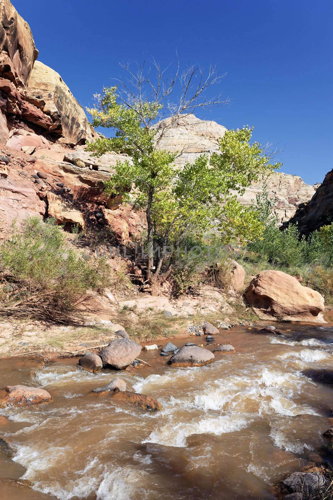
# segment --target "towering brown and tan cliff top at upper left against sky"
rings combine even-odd
[[[21,150],[17,130],[54,142],[82,143],[92,134],[82,107],[60,75],[41,62],[27,22],[9,0],[0,0],[0,143]],[[34,137],[35,136],[35,137]]]

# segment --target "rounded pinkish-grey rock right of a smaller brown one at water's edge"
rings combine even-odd
[[[128,338],[116,338],[112,340],[100,353],[103,366],[114,368],[126,368],[140,354],[141,345]]]

